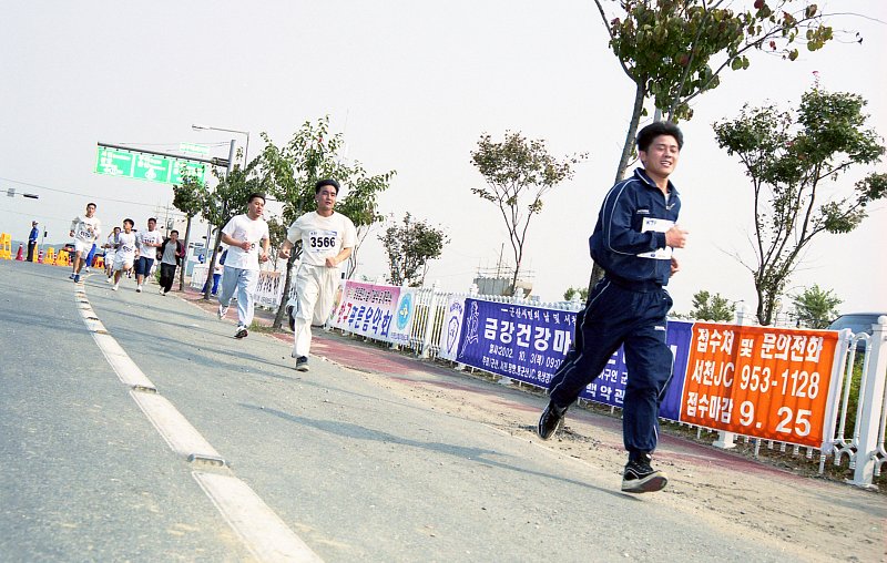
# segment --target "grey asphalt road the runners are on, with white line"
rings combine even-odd
[[[147,287],[0,260],[0,561],[806,559]]]

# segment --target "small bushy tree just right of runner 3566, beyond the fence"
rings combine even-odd
[[[394,285],[419,287],[428,273],[428,260],[439,258],[449,238],[443,231],[407,213],[402,225],[385,229],[379,240],[388,254],[389,282]]]

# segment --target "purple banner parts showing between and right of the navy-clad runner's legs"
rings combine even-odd
[[[681,389],[686,372],[693,324],[684,320],[669,320],[665,342],[672,350],[672,381],[660,405],[659,416],[669,420],[680,420]],[[601,375],[589,383],[579,395],[583,399],[622,408],[625,398],[625,385],[629,381],[629,369],[625,366],[625,352],[620,347]]]

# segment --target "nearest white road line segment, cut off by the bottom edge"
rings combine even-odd
[[[257,560],[323,561],[239,479],[202,471],[192,475]]]

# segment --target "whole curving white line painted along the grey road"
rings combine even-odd
[[[75,287],[75,298],[83,324],[92,332],[92,338],[102,350],[108,364],[118,378],[130,387],[144,390],[130,390],[147,420],[163,437],[170,448],[187,459],[207,458],[222,460],[215,448],[195,429],[179,410],[156,393],[154,383],[147,379],[139,366],[130,358],[118,341],[109,334],[98,315],[89,305],[85,290]],[[192,475],[204,493],[215,505],[228,525],[244,542],[246,549],[258,561],[293,561],[298,563],[322,562],[308,545],[299,539],[283,520],[243,481],[236,477],[194,471]]]

